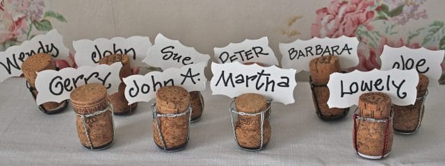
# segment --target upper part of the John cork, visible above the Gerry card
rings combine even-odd
[[[117,62],[122,63],[122,68],[120,68],[120,73],[119,73],[120,80],[122,81],[122,78],[130,76],[132,74],[129,56],[124,54],[113,54],[110,56],[104,56],[99,60],[100,65],[102,64],[111,65]]]

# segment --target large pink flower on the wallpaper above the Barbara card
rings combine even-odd
[[[373,5],[373,0],[331,1],[330,8],[316,10],[316,23],[311,27],[312,36],[354,37],[359,25],[364,25],[371,31],[373,27],[369,23],[373,20],[374,11],[368,8]]]

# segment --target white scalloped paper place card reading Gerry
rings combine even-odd
[[[70,99],[72,90],[88,83],[102,83],[108,94],[118,92],[119,72],[122,63],[83,66],[77,69],[66,67],[56,70],[44,70],[37,73],[35,89],[39,92],[35,102],[40,105],[48,101],[60,102]]]

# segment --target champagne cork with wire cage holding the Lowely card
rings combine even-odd
[[[391,116],[391,98],[381,92],[362,94],[359,97],[358,110],[359,117],[374,119],[354,119],[354,146],[357,153],[359,156],[371,159],[387,156],[393,142],[393,128],[389,118]]]

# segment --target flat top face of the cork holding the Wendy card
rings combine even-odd
[[[26,58],[22,63],[25,72],[40,72],[51,65],[51,56],[48,53],[37,53]]]

